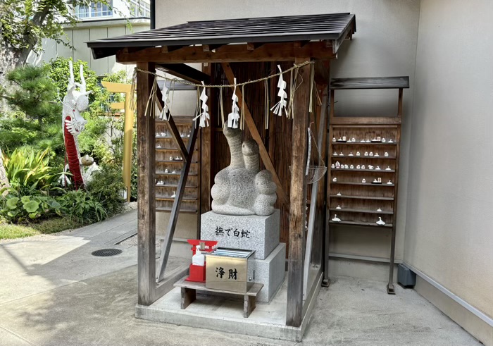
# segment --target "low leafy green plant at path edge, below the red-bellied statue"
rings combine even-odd
[[[58,197],[58,202],[63,213],[80,225],[103,221],[108,217],[103,204],[85,190],[69,191]]]

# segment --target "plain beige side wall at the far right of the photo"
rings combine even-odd
[[[492,17],[492,1],[421,2],[404,251],[408,264],[489,317]]]

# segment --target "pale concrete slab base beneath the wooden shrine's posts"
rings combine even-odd
[[[243,317],[243,302],[211,295],[197,295],[196,301],[187,309],[180,309],[180,288],[174,288],[149,307],[137,304],[135,316],[137,319],[221,330],[230,335],[301,341],[315,307],[321,279],[319,276],[317,290],[305,302],[308,305],[299,327],[286,326],[287,280],[270,304],[257,304],[247,319]]]

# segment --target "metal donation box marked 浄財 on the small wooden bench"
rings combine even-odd
[[[206,288],[248,292],[254,285],[255,251],[218,247],[206,254]]]

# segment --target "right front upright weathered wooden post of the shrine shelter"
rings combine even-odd
[[[303,63],[309,58],[297,58]],[[303,319],[303,255],[306,220],[306,149],[308,128],[308,97],[310,94],[310,65],[298,71],[302,80],[294,94],[294,116],[292,120],[292,179],[289,207],[289,258],[287,276],[287,326],[299,327]]]

